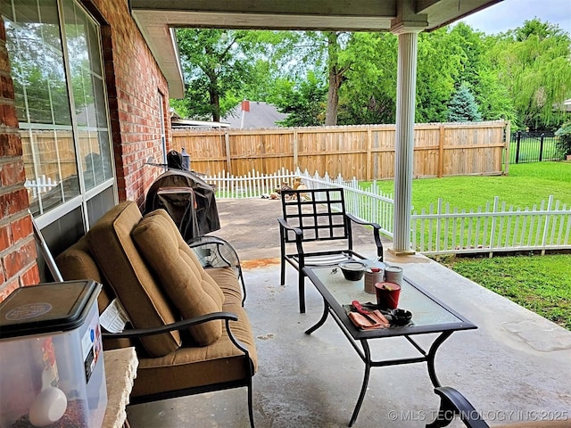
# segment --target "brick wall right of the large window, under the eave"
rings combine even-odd
[[[86,5],[95,17],[100,14],[107,22],[102,26],[103,62],[119,199],[136,201],[142,206],[146,189],[162,172],[145,165],[145,161],[150,156],[155,161],[162,159],[159,94],[164,95],[167,113],[169,88],[128,12],[127,0],[92,0]],[[170,146],[170,118],[166,116]]]

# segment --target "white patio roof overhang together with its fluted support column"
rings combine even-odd
[[[410,248],[418,33],[438,29],[501,0],[130,0],[131,13],[169,82],[185,93],[178,27],[391,31],[399,38],[394,167],[395,254]],[[171,47],[172,46],[172,47]]]

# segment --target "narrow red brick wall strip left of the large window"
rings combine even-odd
[[[39,282],[5,41],[4,21],[0,20],[0,301],[15,288]]]

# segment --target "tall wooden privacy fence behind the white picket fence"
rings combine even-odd
[[[244,176],[282,168],[358,180],[394,177],[395,125],[273,129],[173,129],[192,169]],[[503,120],[417,124],[414,177],[500,175],[507,172],[509,123]]]

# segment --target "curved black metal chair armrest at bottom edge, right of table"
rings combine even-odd
[[[440,396],[440,409],[436,420],[432,424],[426,424],[426,428],[447,426],[454,416],[459,416],[468,428],[490,428],[476,408],[459,391],[450,386],[440,386],[434,388],[434,392]]]

